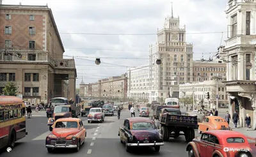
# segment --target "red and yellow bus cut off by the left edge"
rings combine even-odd
[[[16,96],[0,96],[0,149],[26,137],[26,107]]]

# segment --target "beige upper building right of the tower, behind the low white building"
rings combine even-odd
[[[221,62],[220,59],[213,61],[193,61],[193,82],[203,82],[204,80],[212,80],[218,75],[223,79],[227,76],[227,64]]]

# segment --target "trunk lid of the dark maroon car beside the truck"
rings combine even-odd
[[[148,138],[148,140],[159,140],[159,132],[157,130],[131,130],[131,133],[139,141],[145,138]]]

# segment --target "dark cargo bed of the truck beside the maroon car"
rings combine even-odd
[[[162,114],[159,123],[164,124],[165,126],[198,128],[197,116],[182,116],[166,113]]]

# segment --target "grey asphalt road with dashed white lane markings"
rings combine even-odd
[[[39,114],[40,113],[38,113],[38,115]],[[42,112],[42,115],[45,115],[45,112]],[[123,111],[119,120],[116,116],[105,117],[104,123],[90,124],[87,123],[86,117],[81,117],[81,119],[83,119],[84,128],[87,130],[87,138],[79,152],[74,153],[70,149],[59,149],[54,153],[49,154],[45,148],[45,137],[50,133],[50,131],[48,131],[47,118],[43,116],[37,117],[35,115],[31,119],[27,119],[27,137],[19,140],[10,153],[8,153],[6,149],[2,149],[0,156],[188,156],[188,153],[186,152],[187,143],[185,142],[184,136],[181,136],[176,140],[173,139],[170,142],[164,142],[164,146],[161,146],[159,153],[154,152],[154,149],[147,148],[134,149],[132,153],[127,153],[124,144],[120,143],[118,128],[122,126],[124,119],[130,116],[128,111]],[[136,116],[138,116],[138,112],[136,113]],[[198,135],[197,131],[195,132],[196,135]]]

